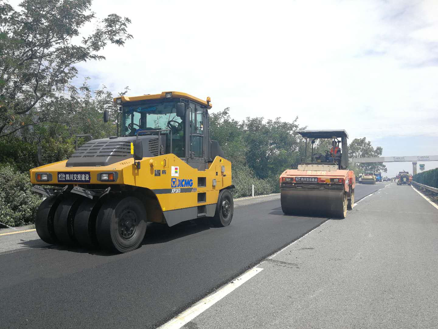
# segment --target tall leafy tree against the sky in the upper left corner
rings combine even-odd
[[[91,0],[24,0],[19,6],[15,11],[0,0],[0,138],[71,118],[78,100],[74,65],[103,60],[99,50],[108,43],[123,46],[132,38],[129,18],[110,14],[76,42],[79,29],[95,21]]]

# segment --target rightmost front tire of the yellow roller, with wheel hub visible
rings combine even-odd
[[[128,219],[125,219],[128,218]],[[125,224],[134,229],[131,236],[122,237]],[[136,197],[108,197],[99,209],[96,218],[96,237],[99,245],[110,251],[126,253],[140,246],[146,232],[146,209]],[[130,226],[131,227],[131,226]]]

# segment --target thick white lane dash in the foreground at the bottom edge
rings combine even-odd
[[[179,329],[187,322],[190,322],[198,315],[200,315],[203,311],[214,305],[216,302],[221,300],[223,297],[231,293],[237,287],[241,286],[249,279],[251,279],[254,275],[261,272],[263,268],[253,267],[244,274],[240,275],[237,279],[232,282],[226,284],[222,288],[220,288],[215,293],[208,295],[207,297],[198,301],[198,303],[194,304],[191,308],[188,308],[184,312],[177,315],[175,318],[165,323],[158,329]]]

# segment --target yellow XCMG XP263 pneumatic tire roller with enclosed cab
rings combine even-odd
[[[32,190],[47,197],[35,220],[41,239],[127,252],[140,245],[147,222],[229,225],[231,163],[209,139],[210,98],[163,92],[114,103],[117,136],[30,171]]]

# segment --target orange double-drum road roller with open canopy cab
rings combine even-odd
[[[305,160],[297,169],[280,175],[280,201],[288,215],[322,215],[345,218],[354,204],[356,177],[348,170],[348,135],[345,130],[302,130],[306,139]],[[332,139],[332,149],[313,153],[317,139]],[[340,141],[339,141],[340,139]],[[307,142],[311,142],[311,161],[307,159]],[[339,150],[336,147],[339,145]],[[341,148],[342,146],[342,148]]]

